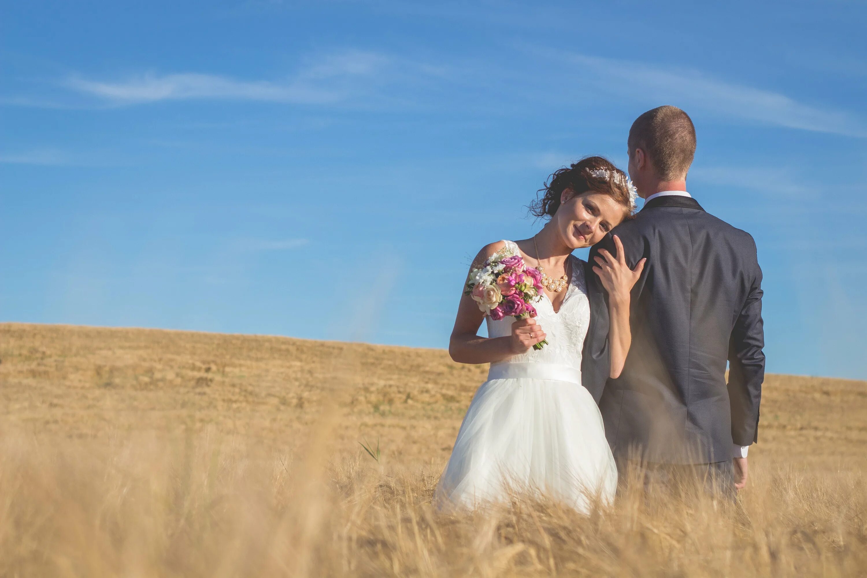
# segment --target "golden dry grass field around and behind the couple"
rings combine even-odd
[[[0,576],[867,575],[867,383],[768,376],[739,502],[430,506],[486,367],[0,324]],[[359,444],[379,445],[371,458]]]

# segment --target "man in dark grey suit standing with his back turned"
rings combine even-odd
[[[632,292],[626,366],[591,393],[619,464],[641,458],[663,480],[697,471],[733,496],[746,484],[765,373],[756,245],[687,192],[695,129],[680,108],[639,116],[628,144],[644,207],[612,234],[629,267],[648,260]],[[591,265],[600,250],[614,252],[610,236]]]

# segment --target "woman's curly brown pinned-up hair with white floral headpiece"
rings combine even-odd
[[[633,201],[629,198],[629,182],[626,173],[603,157],[584,157],[569,167],[555,171],[538,190],[538,198],[530,205],[531,214],[551,218],[560,208],[560,198],[566,189],[577,195],[598,192],[613,198],[623,205],[625,218],[632,218]]]

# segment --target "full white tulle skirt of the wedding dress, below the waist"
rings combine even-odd
[[[434,503],[474,509],[531,492],[586,512],[594,500],[610,503],[616,485],[602,414],[583,386],[497,379],[473,397]]]

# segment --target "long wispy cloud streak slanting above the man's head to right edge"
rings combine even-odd
[[[700,71],[665,68],[574,53],[551,53],[590,73],[594,88],[642,101],[701,108],[733,118],[818,133],[867,137],[867,122],[854,114],[796,101],[785,94],[722,81]],[[586,78],[587,75],[582,75]]]

